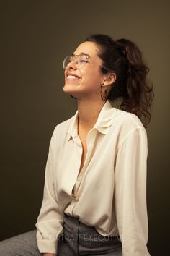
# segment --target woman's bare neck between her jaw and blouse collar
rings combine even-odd
[[[84,129],[91,129],[97,121],[104,101],[78,100],[79,125]]]

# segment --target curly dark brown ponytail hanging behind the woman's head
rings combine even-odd
[[[153,86],[147,80],[149,69],[143,63],[142,53],[135,43],[120,39],[116,44],[127,61],[127,94],[122,98],[120,108],[136,114],[146,127],[151,121],[151,103],[154,98]]]

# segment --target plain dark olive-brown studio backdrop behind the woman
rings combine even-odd
[[[63,57],[91,33],[138,44],[155,100],[148,132],[147,202],[151,255],[169,242],[169,1],[1,1],[0,239],[35,229],[48,145],[73,116],[63,93]]]

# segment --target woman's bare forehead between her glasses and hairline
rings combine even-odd
[[[81,53],[88,54],[91,58],[96,57],[96,59],[97,59],[98,54],[99,54],[99,46],[97,46],[97,44],[93,43],[93,42],[81,43],[76,48],[76,51],[74,51],[74,54],[81,54]]]

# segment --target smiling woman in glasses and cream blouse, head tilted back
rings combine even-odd
[[[50,142],[36,223],[40,253],[148,256],[148,67],[130,40],[91,35],[63,68],[63,90],[78,111],[55,127]],[[117,99],[120,108],[110,104]],[[25,236],[35,243],[35,231]],[[15,239],[23,244],[23,235]]]

